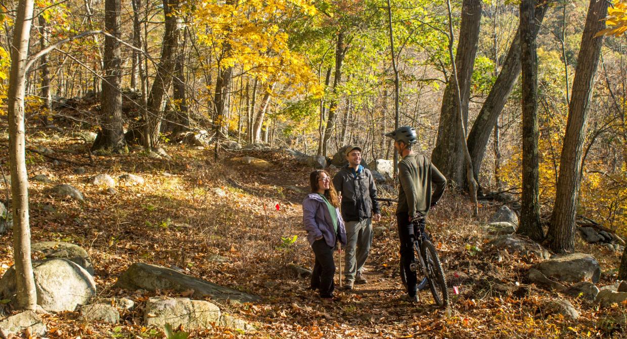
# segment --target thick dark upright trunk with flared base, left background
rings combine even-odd
[[[105,30],[111,35],[105,36],[105,54],[103,58],[105,77],[102,82],[102,126],[92,151],[105,149],[113,153],[127,151],[124,140],[122,121],[122,59],[120,58],[120,0],[105,0]]]

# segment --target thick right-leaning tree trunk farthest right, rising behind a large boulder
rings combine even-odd
[[[575,245],[575,218],[581,184],[581,153],[586,139],[587,112],[594,89],[603,36],[594,35],[605,28],[608,2],[591,0],[586,26],[577,56],[577,72],[572,83],[568,122],[559,165],[556,200],[551,216],[547,244],[555,252],[570,252]]]

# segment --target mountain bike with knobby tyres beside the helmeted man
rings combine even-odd
[[[379,202],[398,203],[396,199],[376,198]],[[431,235],[424,230],[424,217],[414,218],[411,223],[414,226],[414,262],[410,264],[411,271],[423,272],[423,279],[418,283],[418,291],[429,286],[435,303],[440,307],[448,306],[448,289],[446,288],[446,276],[442,269],[440,256],[431,242]],[[403,263],[399,261],[401,281],[407,288],[407,277],[403,269]]]

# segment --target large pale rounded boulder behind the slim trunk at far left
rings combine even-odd
[[[83,267],[66,259],[33,261],[33,274],[37,304],[46,311],[73,311],[96,294],[93,277]],[[15,289],[12,266],[0,279],[0,297],[13,300]]]

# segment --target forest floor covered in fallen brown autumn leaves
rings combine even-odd
[[[428,230],[447,279],[460,291],[450,291],[450,312],[436,308],[428,291],[419,293],[417,304],[399,301],[403,286],[394,207],[384,207],[381,222],[374,223],[387,230],[374,239],[366,267],[369,283],[350,292],[337,291],[340,301],[323,304],[307,289],[307,279],[286,269],[290,262],[303,267],[314,263],[300,206],[308,191],[310,168],[268,151],[225,151],[224,161],[213,161],[213,150],[183,144],[165,146],[172,156],[169,161],[149,158],[135,149],[124,155],[93,155],[90,162],[84,141],[70,133],[53,137],[55,133],[27,133],[30,148],[45,146],[55,151],[53,156],[74,162],[53,164],[28,152],[29,178],[40,173],[54,176],[52,183],[29,182],[32,241],[81,245],[92,256],[98,294],[126,296],[138,306],[122,314],[118,325],[85,323],[76,312],[45,316],[49,338],[162,338],[161,328],[142,327],[143,305],[150,296],[176,294],[113,288],[133,262],[174,265],[191,276],[261,297],[257,303],[222,305],[256,326],[256,331],[216,327],[191,330],[192,338],[580,338],[621,337],[626,330],[624,320],[619,320],[621,315],[624,318],[623,306],[599,309],[585,299],[536,288],[526,276],[538,259],[497,258],[484,249],[488,236],[481,225],[495,212],[495,205],[481,207],[475,218],[465,196],[447,191],[429,215]],[[0,140],[7,143],[6,136]],[[0,148],[8,174],[7,152]],[[258,170],[229,161],[243,155],[266,159],[272,166]],[[87,171],[76,175],[73,170],[80,164]],[[117,193],[108,195],[104,187],[87,181],[100,173],[113,178],[132,173],[142,176],[145,184],[119,182]],[[50,188],[58,183],[83,191],[85,202],[51,195]],[[226,196],[219,196],[216,188]],[[393,192],[382,195],[393,197]],[[293,244],[282,240],[293,235],[298,236]],[[3,274],[13,265],[12,232],[1,235],[0,244]],[[593,254],[601,264],[598,286],[613,284],[618,252],[585,244],[579,237],[576,249]],[[213,261],[216,254],[228,261]],[[579,309],[579,321],[543,315],[542,299],[558,296]]]

